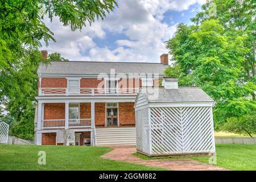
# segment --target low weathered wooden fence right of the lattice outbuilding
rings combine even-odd
[[[215,137],[215,143],[256,144],[256,137]]]

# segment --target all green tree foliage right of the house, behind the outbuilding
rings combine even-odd
[[[208,15],[210,3],[216,4],[217,17]],[[245,121],[240,118],[256,110],[255,2],[209,1],[192,22],[179,24],[166,42],[174,66],[165,73],[207,92],[214,100],[215,128],[227,130],[221,126],[231,118]]]

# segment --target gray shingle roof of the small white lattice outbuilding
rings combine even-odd
[[[179,89],[148,89],[142,93],[148,102],[213,102],[202,89],[196,86],[179,86]]]

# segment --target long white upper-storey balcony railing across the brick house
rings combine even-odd
[[[39,96],[136,95],[138,88],[39,88]]]

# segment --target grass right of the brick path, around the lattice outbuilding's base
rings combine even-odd
[[[230,170],[256,171],[256,145],[250,144],[217,144],[217,166]],[[150,158],[146,155],[134,153],[144,160],[152,159],[194,159],[203,163],[209,163],[209,156],[170,156],[170,157],[154,157]]]

